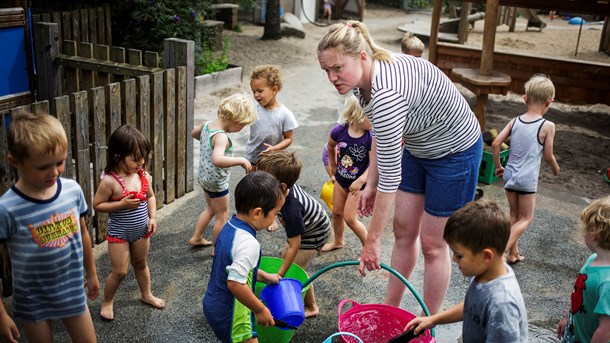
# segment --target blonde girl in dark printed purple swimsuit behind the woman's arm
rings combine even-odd
[[[336,180],[333,192],[335,237],[322,247],[324,252],[343,247],[344,222],[362,245],[367,236],[366,227],[358,220],[356,206],[368,175],[373,140],[371,122],[364,116],[355,96],[345,100],[345,109],[339,121],[342,125],[336,126],[328,138],[328,162]]]

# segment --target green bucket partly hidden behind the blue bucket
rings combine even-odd
[[[284,260],[278,257],[263,256],[261,257],[261,264],[258,269],[264,270],[267,273],[277,274],[277,272],[280,271],[283,262]],[[305,273],[303,268],[294,263],[288,268],[284,277],[297,279],[302,284],[309,279],[309,276],[307,276],[307,273]],[[261,298],[261,291],[265,286],[267,285],[264,282],[256,282],[254,293],[257,298]],[[305,293],[307,293],[308,289],[309,285],[301,291],[303,300],[305,300]],[[275,326],[264,327],[259,326],[258,324],[256,325],[256,332],[258,333],[258,341],[260,343],[288,343],[292,340],[292,336],[294,336],[294,330],[281,330]]]

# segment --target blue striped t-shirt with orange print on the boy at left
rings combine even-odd
[[[29,322],[85,312],[80,218],[89,213],[74,180],[57,180],[57,192],[37,200],[15,186],[0,198],[0,240],[13,268],[13,315]]]

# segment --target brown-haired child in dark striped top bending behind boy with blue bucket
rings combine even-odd
[[[257,166],[258,170],[275,176],[289,192],[279,213],[288,241],[281,253],[284,262],[278,274],[284,276],[293,262],[305,269],[324,246],[330,219],[322,205],[296,184],[301,174],[301,161],[295,153],[271,151],[261,157]],[[311,286],[305,294],[304,305],[306,318],[320,312]]]

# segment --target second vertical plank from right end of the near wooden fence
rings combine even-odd
[[[165,116],[163,117],[164,189],[165,203],[176,198],[176,71],[166,69],[164,73],[163,98],[165,99]]]

